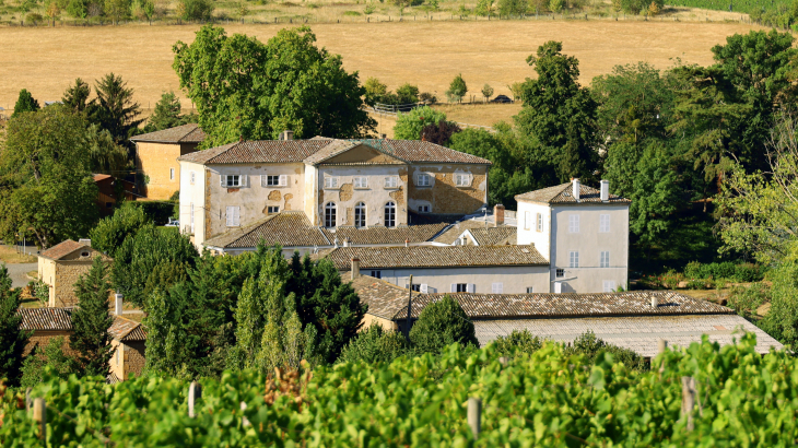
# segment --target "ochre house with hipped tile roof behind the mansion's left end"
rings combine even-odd
[[[198,125],[143,133],[130,138],[136,144],[136,170],[144,176],[142,194],[151,200],[169,199],[180,189],[177,157],[197,151],[206,139]]]

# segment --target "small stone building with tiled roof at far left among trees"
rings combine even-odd
[[[92,249],[92,241],[67,239],[38,256],[38,278],[50,287],[49,307],[71,307],[78,304],[74,284],[89,272],[95,257],[114,261],[107,255]]]

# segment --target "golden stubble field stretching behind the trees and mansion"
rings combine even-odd
[[[265,40],[282,25],[225,26]],[[172,46],[190,42],[197,25],[0,28],[0,106],[13,107],[19,91],[39,102],[57,101],[75,78],[93,82],[107,72],[121,74],[144,108],[162,92],[179,92],[172,69]],[[495,94],[532,74],[525,59],[547,40],[562,40],[564,52],[580,61],[582,82],[608,73],[613,66],[647,61],[657,68],[684,62],[708,64],[709,49],[735,33],[740,23],[493,21],[317,24],[318,44],[343,56],[361,80],[376,76],[390,89],[410,82],[422,91],[444,92],[462,73],[470,93],[489,83]],[[180,93],[183,96],[183,93]],[[190,107],[185,102],[184,107]],[[507,108],[513,115],[516,107]],[[458,121],[492,125],[492,114],[453,109]],[[488,116],[485,116],[488,115]],[[506,119],[497,114],[496,119]],[[477,120],[477,121],[474,121]]]

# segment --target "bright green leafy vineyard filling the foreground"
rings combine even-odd
[[[666,351],[645,372],[609,355],[586,365],[545,344],[508,358],[453,345],[389,365],[279,378],[227,373],[199,381],[193,417],[189,384],[174,378],[49,381],[31,397],[46,402],[52,447],[791,446],[798,361],[784,352],[760,356],[753,342],[746,335],[736,346],[705,341]],[[695,382],[688,414],[682,377]],[[24,391],[0,394],[0,445],[44,446]],[[477,438],[470,398],[482,402]]]

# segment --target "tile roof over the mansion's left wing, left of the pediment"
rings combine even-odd
[[[260,140],[233,142],[178,157],[199,164],[302,162],[335,140]]]

